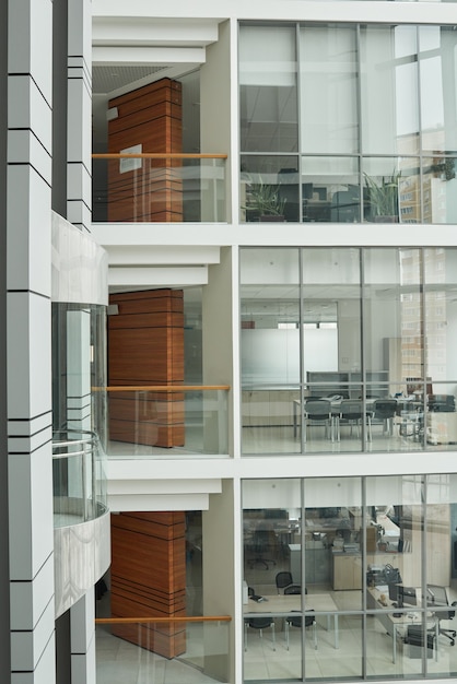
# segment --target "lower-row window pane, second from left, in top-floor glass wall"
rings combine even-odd
[[[303,221],[360,221],[360,176],[355,157],[302,158]]]

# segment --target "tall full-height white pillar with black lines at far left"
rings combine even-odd
[[[52,684],[51,0],[8,0],[7,367],[12,684]]]

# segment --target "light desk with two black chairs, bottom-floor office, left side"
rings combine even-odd
[[[266,595],[267,601],[253,601],[244,604],[244,616],[256,617],[258,613],[267,613],[270,615],[289,615],[292,611],[302,609],[302,594],[272,594]],[[338,608],[329,593],[307,593],[304,595],[305,609],[315,611],[316,613],[327,613],[327,630],[330,630],[330,617],[333,617],[333,638],[335,648],[339,648],[338,634]]]

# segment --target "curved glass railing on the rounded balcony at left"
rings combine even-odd
[[[106,456],[84,431],[52,435],[54,527],[95,520],[107,511]]]

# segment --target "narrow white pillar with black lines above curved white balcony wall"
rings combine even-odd
[[[90,231],[92,215],[92,3],[68,0],[67,217]]]

